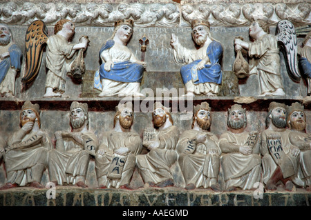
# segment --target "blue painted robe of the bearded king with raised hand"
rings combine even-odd
[[[195,85],[198,83],[221,84],[223,72],[221,70],[220,60],[223,55],[223,46],[217,41],[212,41],[207,47],[206,54],[211,64],[205,64],[205,68],[202,70],[196,70],[196,66],[202,59],[182,66],[180,74],[182,75],[184,84],[190,80],[192,80]]]

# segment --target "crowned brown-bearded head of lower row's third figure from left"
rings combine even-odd
[[[127,101],[124,104],[119,103],[115,108],[116,113],[113,119],[113,128],[117,121],[119,121],[120,126],[124,129],[129,129],[133,125],[133,105],[131,102]]]

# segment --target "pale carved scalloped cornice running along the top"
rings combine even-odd
[[[220,1],[221,2],[221,1]],[[113,26],[119,19],[133,19],[135,27],[187,27],[193,19],[207,19],[211,26],[248,26],[254,19],[272,25],[288,19],[295,26],[311,24],[311,3],[0,3],[0,23],[26,25],[37,19],[48,26],[71,19],[77,26]]]

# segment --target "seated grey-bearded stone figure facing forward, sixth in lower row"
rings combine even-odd
[[[254,189],[254,183],[261,179],[259,134],[245,131],[246,110],[241,105],[228,109],[227,126],[229,130],[219,137],[225,188],[228,191]]]

